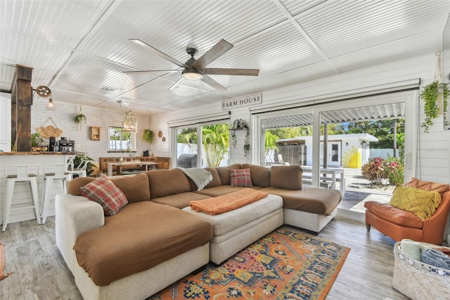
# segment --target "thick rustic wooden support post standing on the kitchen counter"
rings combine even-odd
[[[31,151],[32,70],[16,65],[11,85],[11,143],[15,151]]]

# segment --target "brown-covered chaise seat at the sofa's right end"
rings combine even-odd
[[[337,189],[279,189],[278,187],[266,187],[261,189],[269,194],[275,194],[283,198],[283,208],[295,211],[306,211],[318,215],[331,215],[338,207],[342,198]]]

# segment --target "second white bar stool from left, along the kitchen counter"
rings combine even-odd
[[[67,171],[67,165],[46,165],[44,167],[44,183],[42,187],[42,200],[41,200],[41,216],[42,224],[45,224],[47,215],[49,215],[49,204],[51,188],[53,187],[53,180],[62,180],[64,192],[67,193],[65,188],[65,180],[70,180],[70,173]]]

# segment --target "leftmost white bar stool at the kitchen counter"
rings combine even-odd
[[[3,227],[1,231],[6,230],[8,225],[9,213],[11,212],[11,202],[13,201],[13,192],[15,182],[28,182],[30,185],[31,196],[34,206],[26,206],[20,208],[13,208],[12,210],[34,208],[36,214],[37,223],[41,224],[41,217],[39,215],[39,195],[37,192],[37,180],[36,177],[39,174],[39,165],[6,165],[5,177],[6,177],[6,189],[5,189],[5,201],[3,211]]]

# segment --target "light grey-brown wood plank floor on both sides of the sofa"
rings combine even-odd
[[[5,245],[5,272],[0,299],[82,299],[72,273],[55,244],[54,217],[8,224],[0,232]],[[295,227],[290,227],[295,230]],[[326,299],[408,299],[392,288],[394,241],[363,223],[335,218],[319,235],[352,250]],[[122,300],[122,299],[121,299]]]

